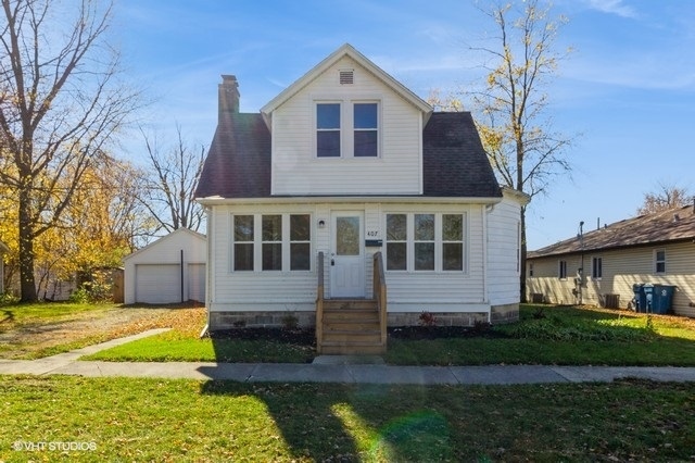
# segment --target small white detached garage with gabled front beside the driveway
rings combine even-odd
[[[125,303],[205,301],[204,235],[179,228],[124,259]]]

